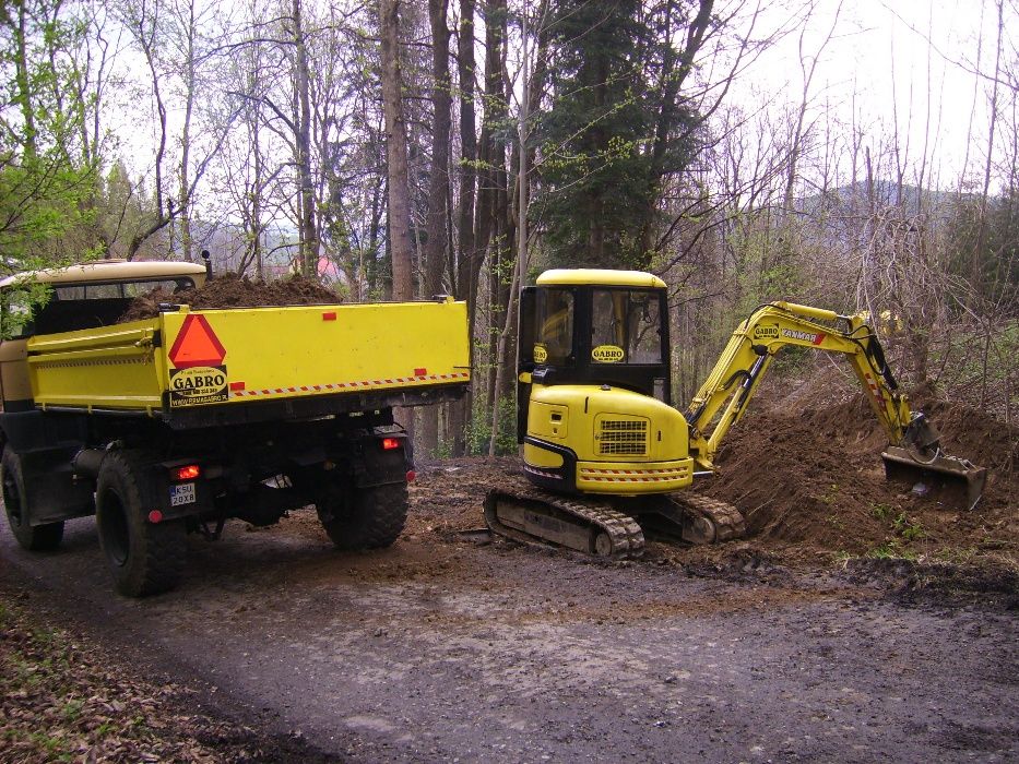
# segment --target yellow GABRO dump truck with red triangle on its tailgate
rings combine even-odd
[[[191,310],[116,323],[206,268],[116,262],[0,282],[3,503],[17,542],[56,548],[95,514],[117,589],[171,588],[186,535],[313,504],[344,549],[403,528],[413,459],[395,406],[464,394],[463,302]],[[29,285],[48,301],[25,310]]]

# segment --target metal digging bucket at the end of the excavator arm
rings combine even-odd
[[[908,480],[939,488],[950,500],[960,497],[965,508],[976,506],[987,481],[987,468],[941,451],[940,435],[922,414],[907,428],[902,445],[889,445],[881,454],[889,480]],[[961,502],[959,502],[961,503]]]

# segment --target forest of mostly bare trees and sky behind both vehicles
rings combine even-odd
[[[5,0],[0,272],[209,250],[345,300],[464,299],[471,394],[417,413],[424,454],[516,450],[513,298],[553,266],[665,279],[678,402],[790,299],[870,311],[907,384],[1009,421],[1019,3],[894,7]],[[976,20],[950,45],[946,8]],[[889,60],[926,65],[840,71],[892,15]]]

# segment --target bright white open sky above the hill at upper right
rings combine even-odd
[[[814,114],[829,109],[875,136],[894,131],[914,162],[926,142],[936,183],[953,187],[965,166],[972,175],[986,156],[986,83],[974,93],[968,69],[993,71],[996,25],[987,0],[818,0],[806,24],[765,52],[732,95],[750,104],[760,92],[774,107],[798,103],[802,44],[808,63],[818,58]]]

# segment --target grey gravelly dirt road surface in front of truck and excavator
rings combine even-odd
[[[91,520],[44,556],[3,527],[0,576],[343,761],[1019,759],[1014,581],[941,597],[905,563],[479,544],[436,514],[471,504],[458,486],[424,470],[407,532],[379,552],[336,552],[308,512],[230,524],[145,600],[112,594]]]

